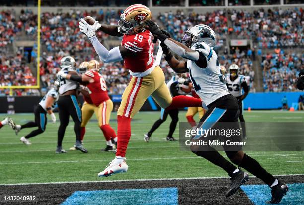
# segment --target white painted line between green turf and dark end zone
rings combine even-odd
[[[303,174],[277,174],[274,177],[284,176],[304,176]],[[141,182],[141,181],[162,181],[162,180],[191,180],[191,179],[225,179],[228,176],[220,177],[182,177],[182,178],[159,178],[159,179],[122,179],[122,180],[103,180],[103,181],[75,181],[75,182],[41,182],[41,183],[16,183],[16,184],[0,184],[0,186],[18,186],[18,185],[43,185],[43,184],[76,184],[76,183],[109,183],[109,182]],[[256,176],[250,176],[256,178]]]

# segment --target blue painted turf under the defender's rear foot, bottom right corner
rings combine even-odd
[[[288,184],[289,192],[283,197],[280,205],[303,205],[304,183]],[[267,185],[243,185],[241,189],[255,205],[269,205],[270,188]]]

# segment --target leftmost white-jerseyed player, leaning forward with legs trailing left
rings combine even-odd
[[[23,142],[26,145],[31,145],[31,142],[28,140],[31,137],[35,137],[41,133],[43,133],[46,129],[47,124],[47,113],[51,116],[52,122],[56,122],[56,116],[53,113],[53,110],[57,106],[57,101],[59,98],[58,94],[58,85],[55,84],[54,88],[50,89],[47,94],[41,99],[37,107],[35,107],[34,115],[35,115],[35,121],[30,121],[24,125],[16,125],[15,126],[15,132],[16,135],[18,132],[20,132],[23,128],[32,128],[32,127],[38,127],[38,129],[33,130],[26,136],[22,136],[20,138],[20,141]]]

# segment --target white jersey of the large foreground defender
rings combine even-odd
[[[187,67],[195,92],[208,106],[220,97],[229,94],[225,76],[221,74],[218,55],[206,43],[198,42],[191,49],[201,52],[207,59],[206,68],[200,68],[192,60],[187,61]]]

